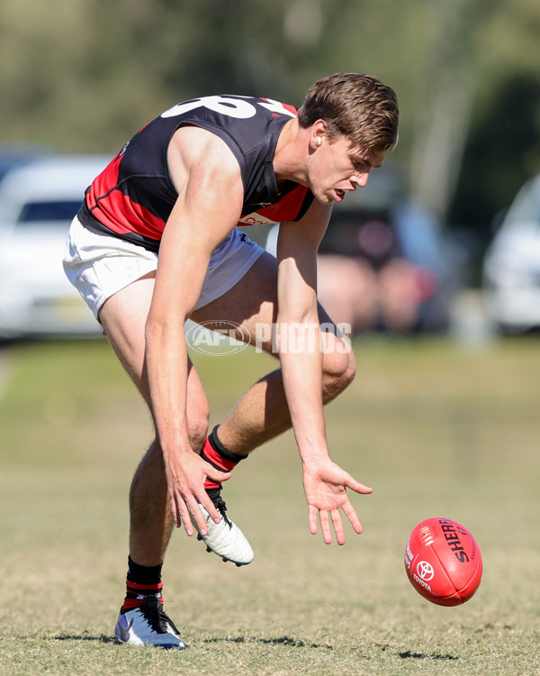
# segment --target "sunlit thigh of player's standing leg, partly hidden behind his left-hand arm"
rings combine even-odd
[[[146,369],[145,324],[148,317],[155,273],[132,282],[108,298],[99,319],[112,349],[130,375],[151,410],[148,372]],[[164,365],[164,368],[166,366]],[[208,401],[201,379],[188,357],[187,417],[193,434],[199,436],[208,419]]]

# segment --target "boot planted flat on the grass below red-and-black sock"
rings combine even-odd
[[[124,612],[121,609],[114,635],[121,644],[158,645],[180,650],[186,647],[159,598],[150,598],[144,606],[132,610]]]

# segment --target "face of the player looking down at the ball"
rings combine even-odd
[[[312,154],[311,190],[323,204],[341,202],[347,192],[365,186],[369,172],[381,167],[385,156],[363,150],[346,136],[318,139]]]

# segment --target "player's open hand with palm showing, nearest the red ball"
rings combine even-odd
[[[330,518],[336,531],[338,544],[345,544],[345,530],[340,509],[343,510],[355,532],[362,533],[362,524],[356,515],[355,508],[347,496],[347,489],[367,495],[373,491],[356,481],[347,471],[331,460],[308,462],[303,465],[303,488],[308,501],[310,531],[317,533],[317,515],[320,519],[320,530],[326,544],[332,542]]]

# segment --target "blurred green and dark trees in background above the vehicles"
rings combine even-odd
[[[537,0],[3,0],[0,142],[112,153],[185,98],[300,105],[367,72],[400,99],[410,190],[487,236],[540,171],[539,34]]]

